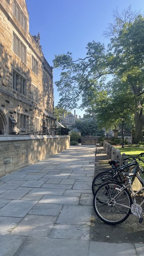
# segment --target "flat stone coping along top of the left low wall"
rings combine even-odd
[[[0,142],[18,140],[44,140],[68,138],[69,135],[0,135]]]

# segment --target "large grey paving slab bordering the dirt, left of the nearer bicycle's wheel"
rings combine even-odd
[[[72,206],[64,205],[57,224],[71,225],[90,225],[91,223],[91,206]]]

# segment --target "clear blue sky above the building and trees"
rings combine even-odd
[[[109,43],[102,36],[108,23],[112,22],[113,9],[132,5],[135,11],[144,13],[144,0],[26,0],[29,12],[29,31],[40,33],[42,51],[49,64],[54,55],[72,52],[74,59],[83,58],[86,45],[92,40]],[[60,70],[53,70],[53,82],[60,79]],[[59,93],[54,85],[55,106]],[[83,116],[84,111],[76,110]]]

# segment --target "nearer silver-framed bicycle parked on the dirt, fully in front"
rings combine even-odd
[[[142,159],[139,159],[144,163]],[[141,173],[144,171],[141,169]],[[122,173],[126,182],[108,182],[101,185],[95,192],[93,205],[97,216],[105,223],[115,225],[125,221],[130,213],[139,217],[139,223],[142,223],[142,204],[136,203],[135,196],[144,190],[144,179],[136,172]],[[142,184],[142,188],[134,193],[132,189],[132,177],[137,177]],[[129,188],[132,197],[129,193]]]

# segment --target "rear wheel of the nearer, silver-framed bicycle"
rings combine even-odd
[[[115,225],[129,217],[132,199],[127,189],[120,191],[121,184],[109,182],[95,192],[93,205],[96,215],[105,223]]]

